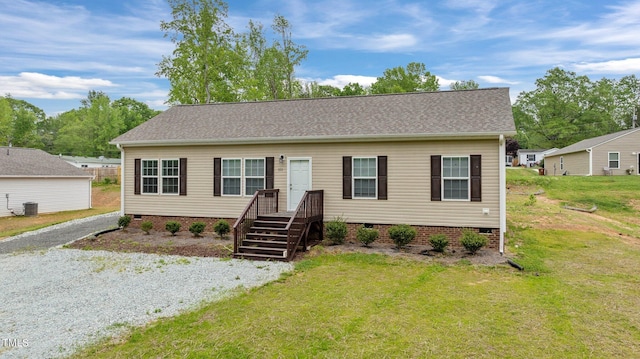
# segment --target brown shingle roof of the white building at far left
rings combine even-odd
[[[58,156],[35,148],[0,147],[0,177],[91,177]]]

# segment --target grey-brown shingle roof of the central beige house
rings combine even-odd
[[[174,106],[116,144],[515,134],[509,89]]]

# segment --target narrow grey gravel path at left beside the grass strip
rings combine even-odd
[[[5,238],[0,241],[0,254],[51,248],[101,230],[117,228],[119,217],[119,212],[107,213]]]

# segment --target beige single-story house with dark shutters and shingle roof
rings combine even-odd
[[[263,201],[260,211],[313,207],[321,229],[344,218],[348,238],[366,225],[389,240],[391,225],[409,224],[418,243],[444,233],[455,246],[471,228],[502,252],[505,137],[515,133],[509,89],[489,88],[179,105],[111,143],[122,214],[155,228],[209,218],[237,232],[254,227],[244,216]]]

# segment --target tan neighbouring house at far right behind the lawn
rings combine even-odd
[[[640,128],[582,140],[547,155],[548,175],[627,175],[640,167]]]

